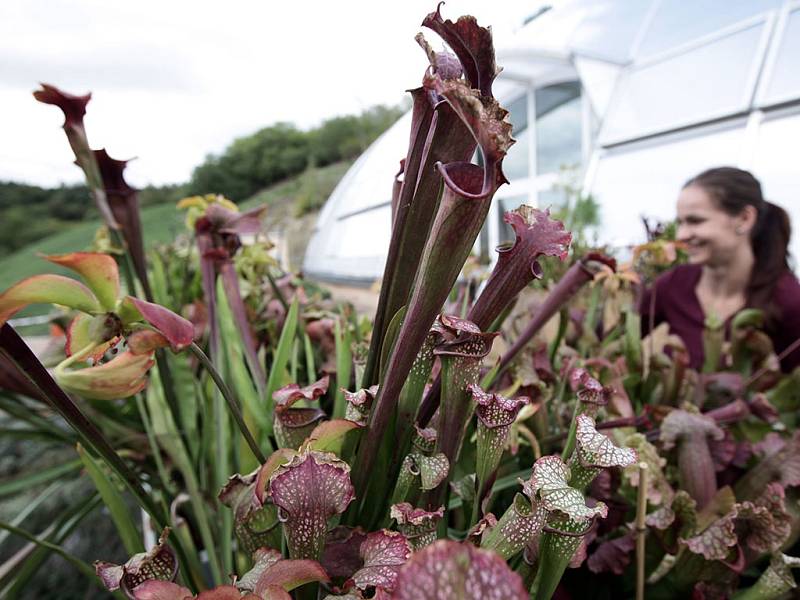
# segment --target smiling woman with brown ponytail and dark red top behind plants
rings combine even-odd
[[[764,311],[765,331],[781,368],[800,364],[800,283],[789,269],[789,217],[767,202],[747,171],[709,169],[690,179],[678,196],[678,240],[689,264],[659,277],[640,301],[642,325],[666,322],[703,364],[703,322],[716,315],[726,327],[745,307]],[[654,297],[655,294],[655,297]],[[652,311],[652,313],[651,313]]]

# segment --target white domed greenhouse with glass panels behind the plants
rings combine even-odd
[[[644,241],[641,217],[674,218],[683,183],[722,165],[752,171],[800,219],[800,2],[573,0],[499,39],[496,93],[514,137],[480,244],[506,239],[503,211],[561,199],[567,169],[600,204],[598,240]],[[533,124],[534,126],[530,126]],[[350,169],[320,213],[305,271],[380,278],[391,182],[410,115]],[[792,254],[800,254],[798,237]],[[488,253],[492,254],[492,253]]]

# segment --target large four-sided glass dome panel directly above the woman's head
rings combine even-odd
[[[754,25],[623,74],[600,132],[607,145],[746,110],[764,30]]]

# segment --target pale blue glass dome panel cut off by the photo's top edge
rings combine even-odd
[[[780,0],[663,0],[636,58],[658,54],[748,17],[778,8]]]

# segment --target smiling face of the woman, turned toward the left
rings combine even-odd
[[[716,266],[729,264],[749,246],[752,223],[747,213],[731,216],[717,207],[701,187],[690,185],[678,196],[678,240],[686,244],[689,262]]]

